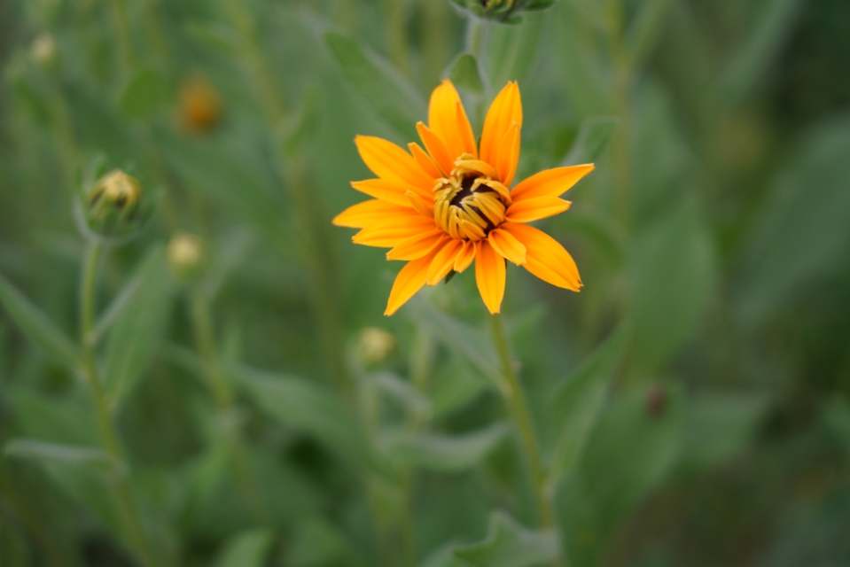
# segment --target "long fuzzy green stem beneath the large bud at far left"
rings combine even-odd
[[[118,431],[113,423],[109,403],[106,400],[103,384],[97,371],[97,357],[95,352],[94,314],[95,314],[95,291],[97,289],[97,266],[100,260],[102,247],[95,240],[90,240],[85,253],[82,268],[82,283],[80,286],[80,341],[82,344],[83,368],[82,373],[89,386],[91,400],[95,406],[97,428],[100,431],[101,441],[107,453],[115,462],[124,463],[121,454],[121,444],[118,440]],[[142,527],[141,516],[136,508],[136,501],[130,490],[128,473],[122,472],[115,478],[113,485],[113,496],[118,508],[121,523],[127,532],[130,544],[135,548],[139,561],[144,567],[157,567],[159,563],[151,547],[147,535]]]

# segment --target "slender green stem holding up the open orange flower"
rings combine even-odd
[[[508,339],[504,334],[502,316],[492,315],[490,317],[490,324],[493,328],[495,349],[502,361],[502,372],[505,380],[502,393],[511,418],[519,433],[519,447],[521,447],[525,454],[528,472],[531,476],[540,525],[543,530],[550,530],[555,526],[555,510],[552,507],[549,493],[546,490],[546,478],[543,473],[540,444],[537,441],[537,435],[534,433],[531,412],[528,409],[526,395],[522,390],[521,384],[519,384],[519,377],[513,369]]]

